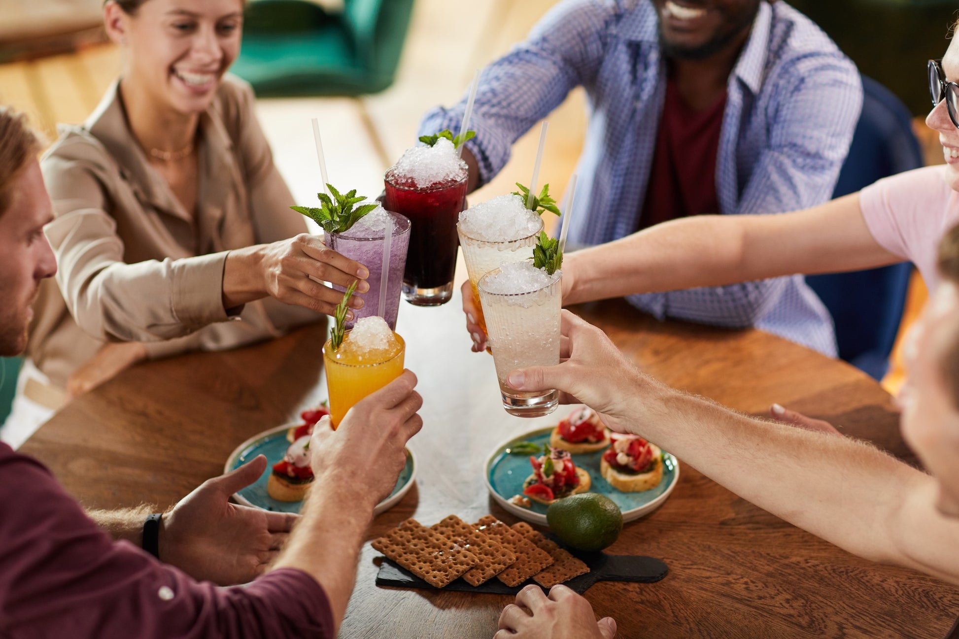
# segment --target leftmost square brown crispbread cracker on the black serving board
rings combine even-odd
[[[373,548],[436,588],[472,568],[477,556],[438,532],[408,519],[373,541]]]

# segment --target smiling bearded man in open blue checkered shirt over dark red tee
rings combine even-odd
[[[862,106],[853,62],[782,0],[564,0],[480,76],[463,153],[471,190],[579,85],[590,121],[572,246],[827,201]],[[434,109],[420,132],[458,130],[464,109]],[[659,319],[758,326],[836,354],[829,312],[800,275],[628,299]]]

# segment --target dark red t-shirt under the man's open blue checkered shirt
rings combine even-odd
[[[693,110],[679,94],[676,82],[667,80],[640,229],[676,218],[719,212],[716,154],[725,108],[723,91],[712,106]]]

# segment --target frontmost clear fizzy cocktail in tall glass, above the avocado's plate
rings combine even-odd
[[[556,390],[515,390],[506,375],[515,368],[559,364],[562,272],[549,273],[529,261],[503,263],[479,279],[479,300],[506,413],[552,413],[559,401]]]

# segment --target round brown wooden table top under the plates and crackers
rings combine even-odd
[[[455,298],[400,313],[407,366],[425,398],[423,431],[409,443],[420,467],[416,486],[376,519],[369,539],[410,516],[426,525],[450,513],[515,521],[487,494],[483,461],[503,439],[566,414],[562,407],[539,419],[505,414],[492,358],[469,351],[458,306]],[[854,367],[756,330],[657,322],[621,301],[574,310],[670,385],[747,413],[779,402],[911,459],[891,398]],[[222,472],[240,442],[325,398],[323,341],[315,326],[241,350],[135,367],[64,408],[22,450],[86,506],[165,508]],[[665,505],[627,524],[609,551],[669,566],[658,583],[599,582],[586,592],[597,615],[617,620],[619,637],[938,638],[959,613],[959,588],[851,556],[686,464]],[[364,546],[340,636],[490,637],[512,600],[380,588],[377,555]]]

